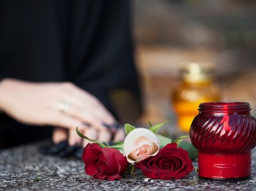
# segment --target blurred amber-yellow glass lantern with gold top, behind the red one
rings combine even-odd
[[[213,80],[213,67],[189,63],[180,70],[181,83],[172,94],[178,128],[189,132],[200,103],[220,101],[220,90]]]

